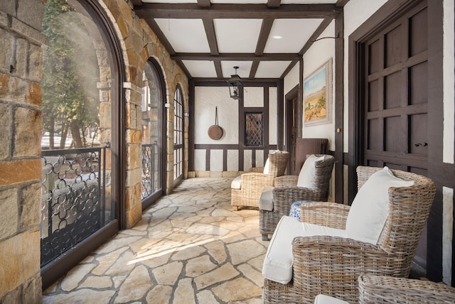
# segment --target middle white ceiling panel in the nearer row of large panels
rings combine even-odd
[[[213,19],[220,53],[255,53],[262,19]]]

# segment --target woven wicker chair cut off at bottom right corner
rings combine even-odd
[[[455,303],[455,288],[432,281],[363,275],[358,278],[359,303]]]

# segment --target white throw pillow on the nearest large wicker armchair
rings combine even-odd
[[[384,167],[368,178],[358,191],[346,219],[346,235],[350,239],[378,244],[380,234],[389,214],[389,188],[410,187],[405,181]]]

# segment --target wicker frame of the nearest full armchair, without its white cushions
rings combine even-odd
[[[380,168],[358,167],[358,188]],[[378,245],[342,237],[296,237],[288,284],[264,280],[264,303],[313,303],[319,293],[358,302],[362,274],[407,278],[429,216],[436,188],[429,178],[392,170],[411,187],[389,188],[389,211]],[[345,229],[348,206],[331,202],[301,205],[301,221]]]

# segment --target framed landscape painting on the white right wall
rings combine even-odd
[[[332,58],[304,80],[304,124],[331,123]]]

